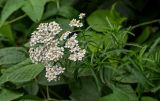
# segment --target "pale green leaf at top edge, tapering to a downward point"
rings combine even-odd
[[[34,21],[41,20],[47,0],[26,0],[22,10]]]

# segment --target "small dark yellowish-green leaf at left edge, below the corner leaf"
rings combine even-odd
[[[10,25],[0,27],[0,35],[6,38],[11,44],[15,43],[14,35]]]

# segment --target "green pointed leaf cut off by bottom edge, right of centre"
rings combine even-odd
[[[98,101],[131,101],[123,92],[114,89],[112,94],[100,98]]]

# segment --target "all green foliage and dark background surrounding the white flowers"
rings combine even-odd
[[[0,0],[0,101],[159,101],[159,9],[158,0]],[[69,27],[81,12],[84,26]],[[28,50],[51,21],[76,32],[86,54],[60,61],[65,72],[48,82]]]

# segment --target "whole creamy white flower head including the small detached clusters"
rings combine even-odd
[[[81,13],[79,19],[84,16],[85,14]],[[73,19],[70,21],[69,26],[82,27],[83,23],[80,20]],[[59,79],[59,75],[64,73],[65,67],[58,64],[58,61],[64,56],[64,51],[69,49],[70,56],[68,59],[72,61],[82,60],[86,53],[85,49],[79,47],[78,40],[76,40],[77,34],[74,33],[73,36],[69,37],[72,32],[61,33],[61,31],[60,25],[53,21],[41,23],[31,35],[30,58],[35,64],[44,64],[46,67],[45,77],[48,81],[56,81]],[[63,45],[60,44],[63,42]]]

